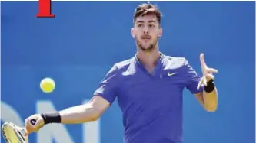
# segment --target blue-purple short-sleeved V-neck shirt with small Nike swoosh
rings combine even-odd
[[[203,91],[200,78],[184,57],[161,54],[153,73],[132,57],[115,63],[95,93],[118,100],[125,143],[182,143],[182,92]]]

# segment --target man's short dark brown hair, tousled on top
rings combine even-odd
[[[133,23],[135,23],[136,18],[144,15],[155,15],[158,19],[158,23],[161,24],[161,11],[159,11],[156,5],[152,5],[150,3],[138,5],[133,16]]]

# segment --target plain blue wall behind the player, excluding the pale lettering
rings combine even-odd
[[[90,99],[109,68],[135,54],[132,16],[141,3],[52,2],[56,18],[36,18],[38,2],[1,2],[2,102],[25,119],[38,100],[59,110]],[[164,14],[161,51],[186,57],[198,74],[204,52],[219,70],[217,112],[204,112],[185,90],[185,143],[254,143],[255,3],[152,3]],[[39,89],[45,76],[56,82],[49,95]],[[81,126],[66,127],[81,142]],[[115,102],[101,117],[101,143],[120,143],[122,132]],[[35,134],[30,139],[36,142]]]

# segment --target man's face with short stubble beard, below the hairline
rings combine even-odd
[[[141,50],[150,51],[158,43],[162,29],[159,27],[158,19],[155,15],[144,15],[136,18],[131,34]]]

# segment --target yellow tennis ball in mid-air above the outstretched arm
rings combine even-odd
[[[40,88],[45,93],[51,93],[55,89],[55,81],[51,78],[44,78],[40,82]]]

